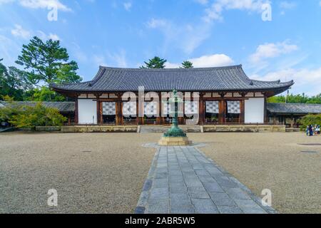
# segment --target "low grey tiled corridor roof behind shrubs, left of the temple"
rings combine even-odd
[[[9,103],[6,101],[0,101],[0,108],[1,105],[8,105]],[[14,105],[30,105],[35,106],[37,102],[33,101],[14,101]],[[42,102],[42,104],[46,108],[56,108],[61,113],[72,113],[75,111],[75,103],[74,102]]]

